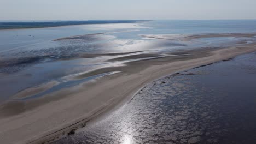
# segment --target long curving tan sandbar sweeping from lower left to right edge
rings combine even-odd
[[[236,34],[208,35],[208,37],[217,36],[236,37]],[[207,35],[200,36],[203,37]],[[240,34],[239,37],[252,37],[252,34]],[[195,35],[185,40],[196,38],[198,36]],[[170,53],[174,56],[130,62],[126,63],[126,67],[109,67],[92,71],[84,77],[110,71],[122,73],[62,89],[42,98],[13,101],[0,106],[0,140],[3,143],[42,143],[54,140],[69,131],[85,126],[90,119],[113,109],[121,101],[131,99],[147,83],[162,76],[253,51],[256,51],[254,43],[224,49],[187,50],[177,53],[189,55],[175,56],[177,53]],[[127,58],[129,57],[124,59]],[[15,115],[2,115],[4,112],[14,112]]]

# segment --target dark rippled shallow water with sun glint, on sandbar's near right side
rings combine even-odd
[[[256,143],[256,53],[182,71],[54,143]]]

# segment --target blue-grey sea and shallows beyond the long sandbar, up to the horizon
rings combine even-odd
[[[256,32],[256,20],[172,20],[140,23],[77,25],[51,28],[0,31],[0,101],[22,89],[88,70],[120,63],[104,62],[112,57],[78,58],[83,53],[170,52],[177,49],[218,46],[232,38],[200,39],[182,43],[153,40],[142,34],[199,34]],[[74,35],[88,35],[83,40],[53,41]],[[70,59],[63,58],[70,57]]]

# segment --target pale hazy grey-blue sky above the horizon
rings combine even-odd
[[[256,19],[256,0],[0,0],[0,20]]]

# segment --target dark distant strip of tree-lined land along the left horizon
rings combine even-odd
[[[42,27],[58,27],[58,26],[89,25],[89,24],[107,24],[107,23],[135,23],[135,22],[144,22],[144,21],[147,21],[147,20],[0,22],[0,29],[42,28]]]

